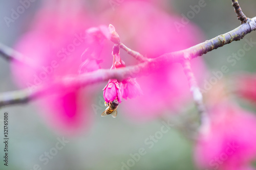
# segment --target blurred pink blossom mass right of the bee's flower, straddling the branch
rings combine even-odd
[[[202,31],[191,21],[178,31],[174,22],[181,22],[181,19],[181,16],[166,13],[146,2],[125,1],[114,12],[109,10],[103,13],[101,20],[115,26],[121,42],[126,46],[148,58],[155,58],[202,40]],[[129,55],[122,54],[122,58],[125,58],[127,65],[137,63]],[[191,64],[200,84],[206,72],[204,62],[197,58]],[[163,65],[157,72],[136,81],[143,95],[123,101],[119,106],[119,110],[135,120],[157,118],[164,112],[178,112],[192,99],[180,64]]]

